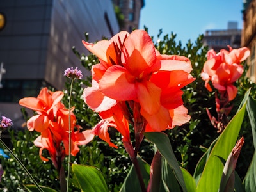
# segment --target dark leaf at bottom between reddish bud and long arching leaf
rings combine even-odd
[[[166,161],[166,159],[163,159],[162,161],[162,182],[163,185],[161,186],[160,191],[170,191],[170,192],[179,192],[180,191],[180,185],[179,182],[177,181],[173,170]]]

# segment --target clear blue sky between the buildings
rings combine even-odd
[[[226,30],[228,21],[243,27],[243,0],[145,0],[141,9],[139,29],[148,28],[150,36],[177,34],[175,40],[185,45],[195,42],[206,30]]]

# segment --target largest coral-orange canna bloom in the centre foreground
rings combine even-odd
[[[110,146],[116,147],[108,127],[115,127],[124,145],[130,145],[129,124],[141,140],[141,132],[161,132],[189,121],[181,90],[195,80],[188,58],[160,54],[143,30],[83,44],[100,60],[92,67],[92,87],[84,89],[84,102],[102,118],[94,134]]]

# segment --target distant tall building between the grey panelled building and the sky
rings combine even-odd
[[[113,0],[113,4],[118,6],[124,15],[120,30],[131,33],[133,29],[139,28],[140,10],[145,6],[144,0]]]

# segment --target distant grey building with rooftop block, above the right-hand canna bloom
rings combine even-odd
[[[207,30],[204,34],[203,44],[219,52],[220,49],[228,49],[227,45],[232,48],[241,46],[241,29],[237,29],[237,22],[228,22],[227,29]]]

